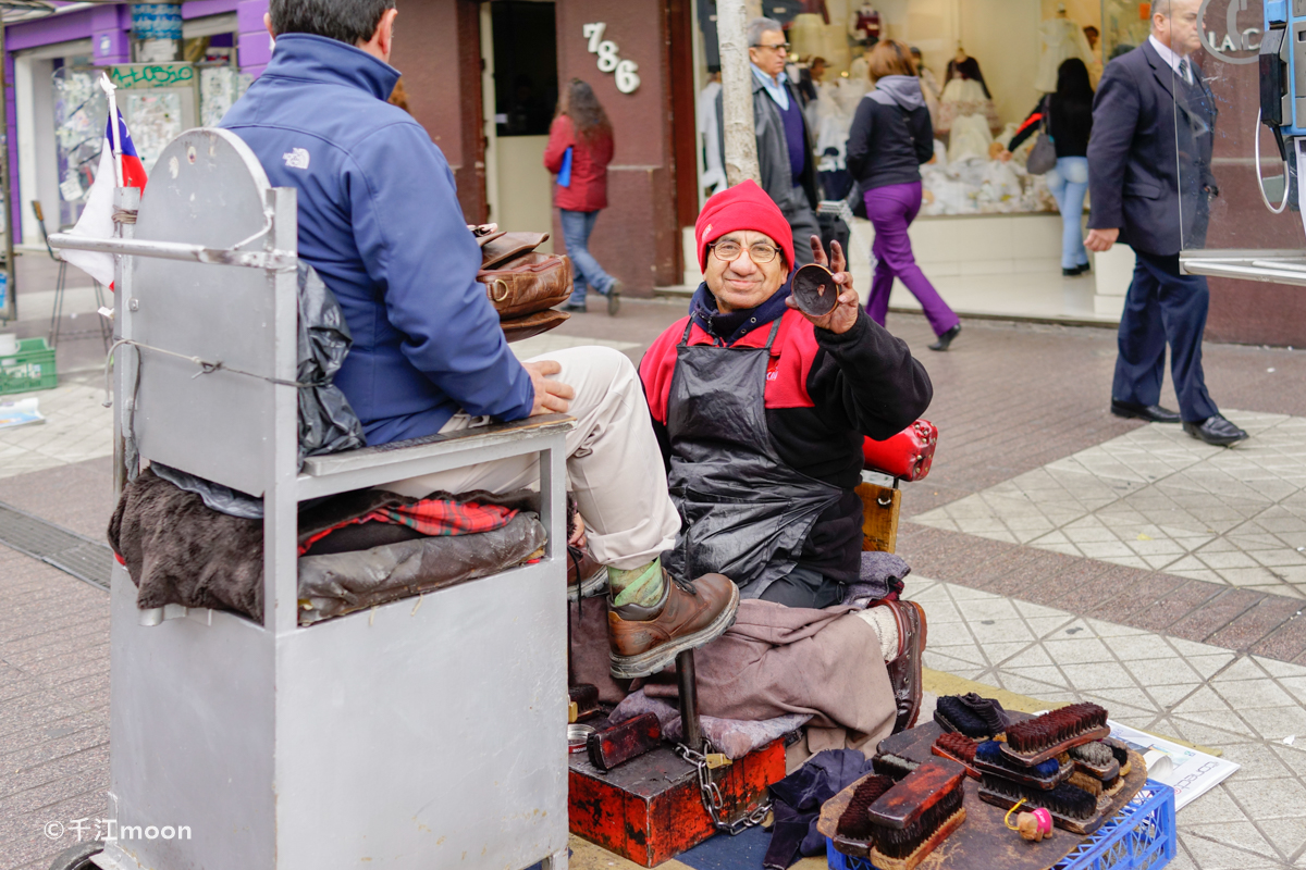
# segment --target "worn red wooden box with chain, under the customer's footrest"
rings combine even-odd
[[[725,820],[767,801],[767,787],[785,777],[785,745],[777,740],[713,771]],[[571,831],[609,852],[652,867],[692,849],[716,830],[703,809],[693,767],[670,746],[602,772],[571,757]]]

